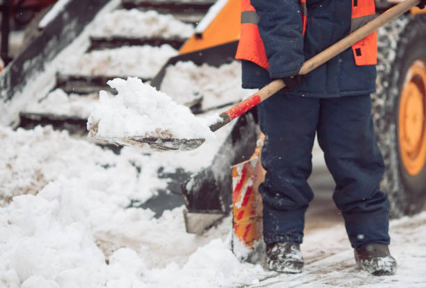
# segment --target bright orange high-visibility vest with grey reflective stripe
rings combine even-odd
[[[267,1],[267,0],[265,0]],[[300,0],[301,23],[305,33],[308,23],[306,0]],[[352,20],[350,31],[355,31],[375,17],[374,0],[352,0]],[[268,69],[269,61],[265,52],[265,44],[260,37],[259,17],[250,0],[242,0],[242,24],[236,59],[248,60]],[[377,63],[377,32],[370,34],[352,46],[357,66],[375,65]]]

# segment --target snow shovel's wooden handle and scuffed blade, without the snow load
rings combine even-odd
[[[303,63],[303,66],[301,67],[299,74],[306,75],[310,71],[326,63],[326,61],[329,61],[330,59],[332,59],[334,56],[337,56],[341,52],[347,50],[349,47],[357,43],[359,40],[370,35],[375,30],[379,29],[379,27],[390,22],[391,20],[395,19],[399,15],[406,13],[408,10],[410,10],[414,6],[418,5],[418,3],[420,3],[420,0],[406,0],[394,6],[393,8],[386,10],[386,12],[377,16],[376,18],[374,18],[374,20],[368,22],[364,26],[361,26],[361,28],[356,29],[356,31],[350,33],[349,36],[346,36],[342,40],[338,41],[338,43],[331,45],[331,47],[327,48],[323,52],[317,54],[316,56],[313,56],[313,58]],[[266,100],[270,96],[274,95],[276,92],[280,91],[283,88],[285,88],[285,84],[282,79],[276,79],[273,82],[267,84],[267,86],[260,89],[257,93],[253,94],[249,98],[246,98],[246,100],[243,100],[237,105],[221,113],[219,115],[219,120],[216,121],[216,123],[213,123],[212,125],[210,125],[210,130],[214,132],[218,130],[219,128],[225,126],[226,124],[230,123],[230,121],[232,121],[233,119],[237,118],[241,114],[244,114],[249,109],[255,107],[256,105]],[[205,142],[205,139],[203,138],[177,139],[173,137],[162,138],[162,137],[143,137],[143,136],[132,137],[131,139],[125,139],[125,140],[127,142],[126,144],[129,144],[131,146],[148,144],[150,145],[152,149],[161,150],[161,151],[192,150],[192,149],[198,148],[198,146],[200,146],[201,144],[203,144],[203,142]]]

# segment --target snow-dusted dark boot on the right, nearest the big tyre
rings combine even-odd
[[[395,258],[390,255],[388,245],[364,244],[354,249],[358,266],[372,275],[393,275],[397,268]]]

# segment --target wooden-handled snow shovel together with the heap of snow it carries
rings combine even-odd
[[[384,25],[390,20],[393,20],[398,15],[407,12],[407,10],[416,4],[418,4],[418,0],[406,0],[404,1],[403,5],[400,3],[397,9],[393,8],[389,10],[389,13],[384,13],[376,17],[371,22],[368,22],[368,24],[365,24],[364,26],[361,26],[361,28],[356,29],[353,33],[350,33],[345,38],[342,38],[342,40],[339,40],[337,43],[334,43],[326,50],[319,52],[319,54],[304,62],[299,70],[299,74],[296,75],[297,77],[295,78],[299,79],[299,75],[306,75],[310,73],[310,71],[315,70],[319,66],[322,66],[322,64],[326,63],[330,59],[333,59],[333,57],[337,56],[338,54],[345,52],[345,50],[347,50],[349,47],[352,47],[352,45],[355,45],[360,40],[373,33],[380,26]],[[250,58],[249,55],[250,53],[248,53],[247,59]],[[237,58],[244,59],[244,57]],[[288,78],[290,79],[291,77]],[[259,103],[267,100],[270,96],[273,96],[278,91],[281,91],[281,89],[289,86],[289,83],[285,82],[284,79],[280,77],[279,73],[276,75],[276,77],[272,77],[272,79],[274,79],[274,81],[264,86],[257,93],[254,93],[252,96],[221,113],[216,117],[216,119],[211,119],[212,122],[208,128],[210,128],[212,132],[218,130]],[[128,79],[127,81],[137,82],[136,79]],[[150,89],[144,89],[136,93],[136,89],[142,89],[144,86],[140,85],[139,88],[131,89],[129,88],[130,86],[136,85],[137,87],[137,84],[130,84],[129,87],[126,88],[126,85],[124,84],[125,80],[123,79],[113,80],[113,82],[109,83],[110,86],[113,86],[113,88],[116,88],[117,86],[116,89],[120,89],[119,94],[126,94],[125,98],[129,99],[129,103],[121,105],[123,103],[123,97],[119,97],[118,100],[113,100],[113,102],[117,102],[126,108],[124,110],[120,110],[120,108],[112,108],[111,105],[107,104],[109,101],[106,100],[104,96],[102,96],[101,103],[104,104],[100,105],[100,108],[96,109],[89,118],[88,130],[90,130],[90,137],[129,146],[141,146],[141,144],[149,144],[152,149],[157,150],[191,150],[198,148],[198,146],[205,142],[205,139],[203,138],[204,135],[212,135],[206,129],[207,121],[203,121],[203,124],[197,123],[200,122],[200,119],[196,120],[195,116],[189,112],[189,109],[183,109],[182,107],[175,105],[175,103],[168,105],[167,102],[171,102],[170,97],[167,96],[164,98],[164,96],[160,96],[158,99],[151,99],[150,96],[156,95],[156,93],[154,93],[154,88],[151,87]],[[248,86],[245,88],[248,88]],[[259,88],[258,85],[256,88]],[[143,96],[146,101],[143,100],[140,103],[139,101],[135,102],[134,100],[137,98],[127,95],[128,93],[136,93],[134,96]],[[157,92],[157,95],[164,94]],[[136,103],[141,105],[134,106]],[[133,109],[134,113],[130,113],[128,115],[128,112],[133,111]],[[176,110],[174,111],[174,109]],[[136,116],[138,114],[145,115],[145,118]],[[165,115],[167,115],[167,119],[164,118]],[[180,116],[182,116],[182,118],[180,118]],[[124,122],[123,119],[125,119]],[[185,121],[185,119],[187,121]],[[144,123],[140,120],[147,120],[147,123]],[[99,123],[101,121],[103,123]],[[107,127],[106,123],[109,123],[111,127]],[[126,126],[123,126],[123,123],[125,123]],[[168,124],[169,126],[164,124]],[[127,125],[129,127],[127,127]],[[186,126],[186,128],[184,126]],[[193,138],[191,138],[191,136]]]

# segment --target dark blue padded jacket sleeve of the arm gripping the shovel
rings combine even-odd
[[[259,20],[271,79],[299,74],[303,56],[300,0],[251,0]]]

